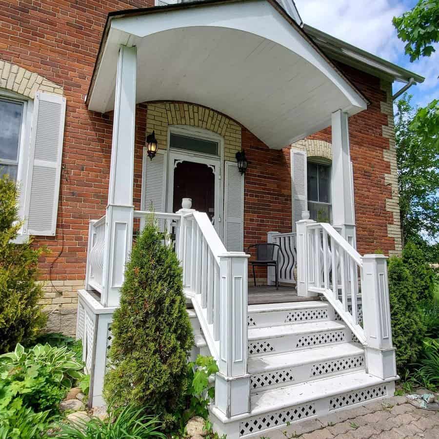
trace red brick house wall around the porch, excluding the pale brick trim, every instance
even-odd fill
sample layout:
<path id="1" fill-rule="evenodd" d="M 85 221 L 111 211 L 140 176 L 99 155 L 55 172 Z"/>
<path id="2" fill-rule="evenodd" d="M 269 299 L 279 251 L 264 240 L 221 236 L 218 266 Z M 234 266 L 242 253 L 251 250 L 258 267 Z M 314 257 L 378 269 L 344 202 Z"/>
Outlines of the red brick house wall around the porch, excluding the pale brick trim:
<path id="1" fill-rule="evenodd" d="M 37 239 L 51 249 L 41 258 L 47 279 L 81 280 L 85 277 L 88 221 L 105 212 L 108 193 L 112 121 L 111 115 L 88 111 L 88 91 L 106 15 L 110 11 L 151 6 L 153 0 L 0 0 L 0 58 L 36 72 L 60 84 L 67 99 L 63 170 L 57 234 Z M 382 158 L 388 140 L 381 125 L 387 117 L 379 102 L 385 94 L 379 80 L 343 66 L 343 70 L 371 100 L 370 108 L 350 120 L 354 160 L 358 246 L 360 253 L 392 249 L 385 210 L 390 189 Z M 137 110 L 134 200 L 140 206 L 141 147 L 145 138 L 146 106 Z M 331 141 L 330 130 L 314 137 Z M 266 232 L 291 230 L 289 153 L 269 150 L 245 128 L 242 145 L 249 169 L 245 178 L 245 246 L 266 240 Z"/>

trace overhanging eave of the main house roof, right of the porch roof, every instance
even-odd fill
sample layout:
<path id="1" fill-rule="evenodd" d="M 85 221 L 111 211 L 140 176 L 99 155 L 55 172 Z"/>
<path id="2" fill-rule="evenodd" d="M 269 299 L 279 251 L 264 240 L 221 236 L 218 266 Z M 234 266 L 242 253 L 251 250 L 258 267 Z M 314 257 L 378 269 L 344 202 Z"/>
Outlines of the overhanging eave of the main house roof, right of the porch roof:
<path id="1" fill-rule="evenodd" d="M 403 83 L 408 83 L 410 78 L 413 78 L 417 83 L 421 83 L 425 80 L 424 77 L 415 72 L 379 58 L 370 52 L 349 44 L 346 41 L 339 40 L 306 23 L 303 24 L 303 30 L 314 40 L 320 50 L 331 59 L 338 60 L 352 67 L 359 68 L 366 73 L 387 80 L 396 80 Z"/>

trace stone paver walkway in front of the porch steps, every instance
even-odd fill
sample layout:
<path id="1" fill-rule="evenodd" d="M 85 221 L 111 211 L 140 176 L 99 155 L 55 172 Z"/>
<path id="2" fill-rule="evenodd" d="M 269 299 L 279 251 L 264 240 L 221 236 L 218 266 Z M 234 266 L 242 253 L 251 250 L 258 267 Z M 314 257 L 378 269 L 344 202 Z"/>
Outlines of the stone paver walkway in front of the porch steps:
<path id="1" fill-rule="evenodd" d="M 393 397 L 267 432 L 270 439 L 439 439 L 439 412 Z"/>

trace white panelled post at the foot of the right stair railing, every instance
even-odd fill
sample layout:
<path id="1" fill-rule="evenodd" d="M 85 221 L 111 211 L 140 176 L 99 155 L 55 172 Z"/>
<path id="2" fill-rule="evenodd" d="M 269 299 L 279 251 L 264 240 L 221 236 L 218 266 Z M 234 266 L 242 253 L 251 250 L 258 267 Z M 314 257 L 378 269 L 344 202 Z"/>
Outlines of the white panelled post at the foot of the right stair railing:
<path id="1" fill-rule="evenodd" d="M 386 259 L 383 255 L 364 255 L 361 279 L 367 372 L 382 379 L 396 376 Z"/>

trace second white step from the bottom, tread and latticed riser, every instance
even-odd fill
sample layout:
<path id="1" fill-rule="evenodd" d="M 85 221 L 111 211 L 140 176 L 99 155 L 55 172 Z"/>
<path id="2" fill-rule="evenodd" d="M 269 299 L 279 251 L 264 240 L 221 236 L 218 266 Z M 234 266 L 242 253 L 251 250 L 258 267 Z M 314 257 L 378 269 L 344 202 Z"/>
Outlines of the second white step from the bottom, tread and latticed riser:
<path id="1" fill-rule="evenodd" d="M 250 391 L 283 387 L 313 379 L 364 370 L 364 349 L 355 343 L 312 347 L 248 360 Z"/>

